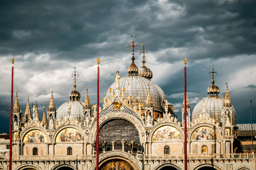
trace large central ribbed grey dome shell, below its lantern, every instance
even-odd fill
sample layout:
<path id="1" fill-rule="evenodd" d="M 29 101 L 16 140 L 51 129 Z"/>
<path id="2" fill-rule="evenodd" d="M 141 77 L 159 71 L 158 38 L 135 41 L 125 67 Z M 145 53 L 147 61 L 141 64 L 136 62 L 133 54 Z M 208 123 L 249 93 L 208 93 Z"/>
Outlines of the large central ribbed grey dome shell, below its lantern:
<path id="1" fill-rule="evenodd" d="M 120 89 L 125 88 L 126 94 L 125 98 L 128 99 L 129 96 L 132 97 L 133 100 L 133 107 L 138 106 L 140 103 L 146 107 L 147 104 L 147 96 L 148 90 L 150 91 L 150 96 L 152 100 L 152 104 L 154 109 L 158 111 L 163 111 L 163 100 L 166 99 L 166 96 L 163 90 L 158 87 L 156 84 L 151 82 L 148 79 L 143 77 L 133 75 L 127 76 L 119 79 Z M 114 82 L 110 88 L 116 89 L 116 83 Z M 110 98 L 109 90 L 107 92 L 106 98 Z"/>

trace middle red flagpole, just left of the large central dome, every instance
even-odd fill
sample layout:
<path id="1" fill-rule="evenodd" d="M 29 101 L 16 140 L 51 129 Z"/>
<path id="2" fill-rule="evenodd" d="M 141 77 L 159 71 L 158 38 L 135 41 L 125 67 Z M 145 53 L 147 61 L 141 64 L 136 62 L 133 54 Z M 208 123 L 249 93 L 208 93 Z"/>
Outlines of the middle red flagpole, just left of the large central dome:
<path id="1" fill-rule="evenodd" d="M 100 78 L 100 58 L 97 58 L 98 63 L 98 86 L 97 86 L 97 151 L 96 151 L 96 170 L 99 170 L 99 78 Z"/>

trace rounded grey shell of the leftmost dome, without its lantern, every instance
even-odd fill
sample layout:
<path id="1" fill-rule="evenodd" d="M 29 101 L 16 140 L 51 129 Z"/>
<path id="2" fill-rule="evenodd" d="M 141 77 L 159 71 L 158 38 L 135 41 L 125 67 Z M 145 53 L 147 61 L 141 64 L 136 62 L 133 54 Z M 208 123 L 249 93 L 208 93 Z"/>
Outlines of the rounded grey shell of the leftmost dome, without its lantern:
<path id="1" fill-rule="evenodd" d="M 57 109 L 56 121 L 59 122 L 59 121 L 64 120 L 65 117 L 68 117 L 68 102 L 71 106 L 70 115 L 73 117 L 74 120 L 77 119 L 78 121 L 82 121 L 83 120 L 83 105 L 84 105 L 84 103 L 82 101 L 78 101 L 78 100 L 71 100 L 71 101 L 67 101 L 66 103 L 63 103 Z"/>

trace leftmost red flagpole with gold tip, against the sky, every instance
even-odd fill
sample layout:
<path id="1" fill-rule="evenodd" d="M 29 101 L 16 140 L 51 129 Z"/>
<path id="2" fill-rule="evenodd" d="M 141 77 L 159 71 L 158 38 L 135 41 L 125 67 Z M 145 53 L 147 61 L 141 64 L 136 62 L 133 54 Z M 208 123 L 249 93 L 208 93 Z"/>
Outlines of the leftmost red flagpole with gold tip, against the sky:
<path id="1" fill-rule="evenodd" d="M 9 169 L 12 169 L 12 104 L 13 104 L 13 63 L 14 58 L 12 58 L 12 89 L 11 89 L 11 116 L 10 116 L 10 160 Z"/>

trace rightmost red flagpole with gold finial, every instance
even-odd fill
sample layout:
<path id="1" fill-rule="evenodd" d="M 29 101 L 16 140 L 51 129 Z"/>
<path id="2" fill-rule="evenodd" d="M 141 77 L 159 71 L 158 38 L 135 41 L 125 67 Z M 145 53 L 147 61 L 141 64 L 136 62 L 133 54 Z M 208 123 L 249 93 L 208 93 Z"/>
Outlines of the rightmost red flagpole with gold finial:
<path id="1" fill-rule="evenodd" d="M 184 149 L 185 149 L 185 170 L 187 170 L 187 80 L 186 80 L 186 63 L 187 63 L 187 58 L 184 59 L 185 67 L 184 67 L 184 77 L 185 77 L 185 92 L 184 92 L 184 106 L 185 106 L 185 113 L 184 113 L 184 134 L 185 134 L 185 142 L 184 142 Z"/>

